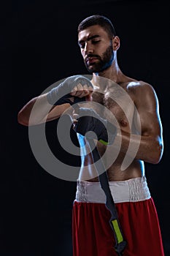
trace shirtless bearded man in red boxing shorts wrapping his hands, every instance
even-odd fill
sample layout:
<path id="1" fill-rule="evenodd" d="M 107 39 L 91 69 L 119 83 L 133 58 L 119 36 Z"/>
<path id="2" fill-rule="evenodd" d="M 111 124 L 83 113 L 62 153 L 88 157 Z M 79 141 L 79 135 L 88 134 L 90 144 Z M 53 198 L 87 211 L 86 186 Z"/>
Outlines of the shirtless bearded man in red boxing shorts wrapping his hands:
<path id="1" fill-rule="evenodd" d="M 53 120 L 70 108 L 74 99 L 85 97 L 84 110 L 92 108 L 117 128 L 113 143 L 107 146 L 98 141 L 97 148 L 101 156 L 106 155 L 104 163 L 108 164 L 109 187 L 127 241 L 124 255 L 163 256 L 158 215 L 144 174 L 144 162 L 157 164 L 163 154 L 155 90 L 148 83 L 128 78 L 120 70 L 117 64 L 120 38 L 108 18 L 93 15 L 82 20 L 78 26 L 78 43 L 85 66 L 93 74 L 90 80 L 93 89 L 88 82 L 76 84 L 77 77 L 73 76 L 69 78 L 69 83 L 74 84 L 69 94 L 70 102 L 64 99 L 56 104 L 53 100 L 50 102 L 58 93 L 55 89 L 53 93 L 50 91 L 31 99 L 18 113 L 18 121 L 28 126 Z M 39 102 L 39 108 L 29 120 L 35 102 Z M 101 105 L 100 110 L 95 103 Z M 80 122 L 80 113 L 73 110 L 72 118 L 75 128 Z M 81 150 L 85 147 L 73 204 L 74 256 L 114 256 L 117 253 L 109 226 L 110 213 L 104 204 L 106 198 L 98 182 L 88 141 L 81 125 L 79 127 L 77 136 Z M 125 158 L 129 161 L 125 162 Z"/>

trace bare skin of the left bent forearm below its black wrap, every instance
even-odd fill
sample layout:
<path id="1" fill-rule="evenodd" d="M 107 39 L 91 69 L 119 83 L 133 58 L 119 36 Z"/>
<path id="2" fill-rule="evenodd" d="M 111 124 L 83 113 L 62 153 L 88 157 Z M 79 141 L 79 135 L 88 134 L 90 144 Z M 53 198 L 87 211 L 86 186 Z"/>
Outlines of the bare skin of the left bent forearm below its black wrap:
<path id="1" fill-rule="evenodd" d="M 53 107 L 47 102 L 47 95 L 42 94 L 39 97 L 31 99 L 18 113 L 18 122 L 25 126 L 41 124 L 61 116 L 69 108 L 69 104 L 63 104 Z"/>

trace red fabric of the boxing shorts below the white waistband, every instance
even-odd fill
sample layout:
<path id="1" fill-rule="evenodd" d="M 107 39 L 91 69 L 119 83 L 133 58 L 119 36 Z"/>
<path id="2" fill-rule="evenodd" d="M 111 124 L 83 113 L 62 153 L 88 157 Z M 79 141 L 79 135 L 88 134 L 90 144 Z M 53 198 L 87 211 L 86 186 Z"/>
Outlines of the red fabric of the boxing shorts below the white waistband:
<path id="1" fill-rule="evenodd" d="M 152 198 L 139 202 L 116 203 L 127 246 L 123 256 L 163 256 L 158 215 Z M 111 214 L 104 203 L 74 201 L 74 256 L 117 256 L 109 225 Z"/>

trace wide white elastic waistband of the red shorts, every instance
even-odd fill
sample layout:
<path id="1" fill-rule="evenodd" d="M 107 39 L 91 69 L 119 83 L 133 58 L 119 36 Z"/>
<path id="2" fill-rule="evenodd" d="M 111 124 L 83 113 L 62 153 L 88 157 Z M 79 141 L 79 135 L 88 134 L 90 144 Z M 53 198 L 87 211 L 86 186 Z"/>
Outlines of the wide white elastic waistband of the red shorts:
<path id="1" fill-rule="evenodd" d="M 109 181 L 109 188 L 115 203 L 137 202 L 150 198 L 146 177 L 131 178 L 127 181 Z M 105 203 L 106 196 L 99 182 L 77 181 L 76 201 Z"/>

